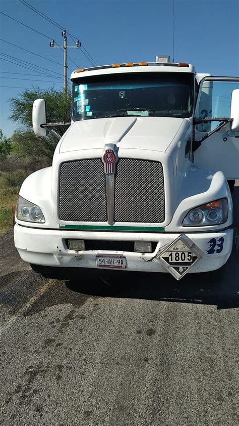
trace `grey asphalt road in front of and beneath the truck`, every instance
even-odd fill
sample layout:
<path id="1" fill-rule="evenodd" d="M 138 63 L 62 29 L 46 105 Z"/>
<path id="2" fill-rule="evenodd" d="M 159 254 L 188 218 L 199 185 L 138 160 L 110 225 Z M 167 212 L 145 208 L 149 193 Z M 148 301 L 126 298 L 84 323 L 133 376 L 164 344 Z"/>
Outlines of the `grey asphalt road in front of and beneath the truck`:
<path id="1" fill-rule="evenodd" d="M 239 251 L 217 284 L 125 271 L 48 280 L 19 260 L 12 233 L 1 250 L 2 424 L 236 424 Z"/>

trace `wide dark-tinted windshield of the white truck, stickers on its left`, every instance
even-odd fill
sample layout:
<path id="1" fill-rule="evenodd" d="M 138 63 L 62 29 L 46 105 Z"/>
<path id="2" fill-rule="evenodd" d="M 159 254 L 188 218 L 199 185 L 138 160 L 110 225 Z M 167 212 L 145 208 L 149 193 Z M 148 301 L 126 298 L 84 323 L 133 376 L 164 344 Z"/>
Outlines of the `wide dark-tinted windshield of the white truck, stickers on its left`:
<path id="1" fill-rule="evenodd" d="M 76 120 L 128 115 L 185 118 L 192 106 L 191 73 L 107 74 L 73 81 Z"/>

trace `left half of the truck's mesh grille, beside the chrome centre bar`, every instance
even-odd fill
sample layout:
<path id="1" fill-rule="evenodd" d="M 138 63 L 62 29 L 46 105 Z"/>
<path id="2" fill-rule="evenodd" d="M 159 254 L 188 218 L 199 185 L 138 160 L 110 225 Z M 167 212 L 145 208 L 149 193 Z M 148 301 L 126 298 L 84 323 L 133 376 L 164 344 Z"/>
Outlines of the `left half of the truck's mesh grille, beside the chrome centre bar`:
<path id="1" fill-rule="evenodd" d="M 104 165 L 100 158 L 61 165 L 59 218 L 71 222 L 107 222 Z"/>

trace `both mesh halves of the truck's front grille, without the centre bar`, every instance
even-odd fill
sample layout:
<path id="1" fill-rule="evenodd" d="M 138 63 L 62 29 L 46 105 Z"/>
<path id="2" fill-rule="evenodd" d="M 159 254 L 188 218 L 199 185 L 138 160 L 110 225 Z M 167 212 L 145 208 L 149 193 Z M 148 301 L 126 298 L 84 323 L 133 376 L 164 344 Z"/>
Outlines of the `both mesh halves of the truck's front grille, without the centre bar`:
<path id="1" fill-rule="evenodd" d="M 107 222 L 105 174 L 100 158 L 61 165 L 59 218 L 70 222 Z M 162 164 L 121 158 L 116 165 L 114 221 L 162 223 L 164 219 Z"/>

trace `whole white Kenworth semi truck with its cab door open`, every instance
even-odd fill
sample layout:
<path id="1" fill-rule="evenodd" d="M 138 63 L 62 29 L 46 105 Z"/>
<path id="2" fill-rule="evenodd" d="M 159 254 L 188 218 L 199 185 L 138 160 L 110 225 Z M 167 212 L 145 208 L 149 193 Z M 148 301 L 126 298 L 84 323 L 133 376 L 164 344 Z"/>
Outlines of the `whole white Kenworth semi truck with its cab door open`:
<path id="1" fill-rule="evenodd" d="M 239 78 L 157 57 L 78 69 L 71 81 L 62 137 L 44 100 L 33 104 L 35 134 L 59 142 L 52 166 L 20 190 L 21 258 L 46 276 L 115 268 L 178 280 L 221 268 L 233 241 L 228 181 L 239 178 Z"/>

